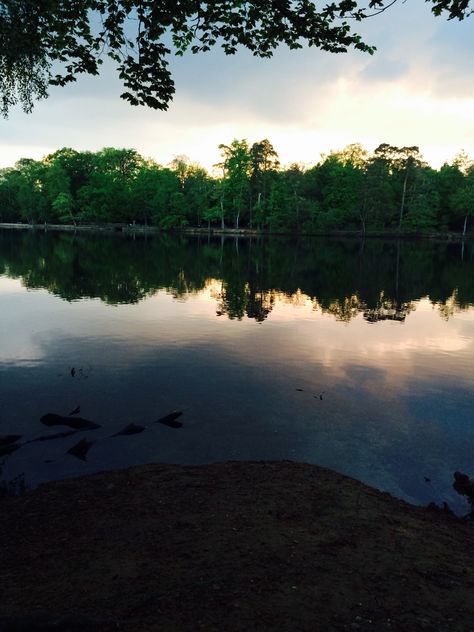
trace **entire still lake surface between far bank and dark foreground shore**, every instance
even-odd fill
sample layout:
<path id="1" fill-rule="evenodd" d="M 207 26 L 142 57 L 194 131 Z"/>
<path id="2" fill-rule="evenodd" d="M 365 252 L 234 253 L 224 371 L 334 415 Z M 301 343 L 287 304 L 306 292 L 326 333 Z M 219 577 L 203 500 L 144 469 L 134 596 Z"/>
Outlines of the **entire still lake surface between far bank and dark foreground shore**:
<path id="1" fill-rule="evenodd" d="M 0 435 L 78 405 L 101 428 L 23 445 L 5 480 L 291 459 L 462 511 L 474 244 L 0 231 Z"/>

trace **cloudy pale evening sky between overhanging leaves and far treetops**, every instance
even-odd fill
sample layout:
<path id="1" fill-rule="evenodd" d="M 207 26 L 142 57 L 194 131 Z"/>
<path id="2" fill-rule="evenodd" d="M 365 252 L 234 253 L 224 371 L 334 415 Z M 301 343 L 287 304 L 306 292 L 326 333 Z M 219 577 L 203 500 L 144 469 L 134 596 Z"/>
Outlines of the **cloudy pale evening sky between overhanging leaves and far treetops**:
<path id="1" fill-rule="evenodd" d="M 398 2 L 356 25 L 373 56 L 279 48 L 172 59 L 176 95 L 166 112 L 132 107 L 112 66 L 101 76 L 52 88 L 32 114 L 0 119 L 0 168 L 61 147 L 134 148 L 162 165 L 185 155 L 207 169 L 218 145 L 268 138 L 282 165 L 316 164 L 359 142 L 420 147 L 435 168 L 461 150 L 474 158 L 474 16 L 435 18 L 422 0 Z"/>

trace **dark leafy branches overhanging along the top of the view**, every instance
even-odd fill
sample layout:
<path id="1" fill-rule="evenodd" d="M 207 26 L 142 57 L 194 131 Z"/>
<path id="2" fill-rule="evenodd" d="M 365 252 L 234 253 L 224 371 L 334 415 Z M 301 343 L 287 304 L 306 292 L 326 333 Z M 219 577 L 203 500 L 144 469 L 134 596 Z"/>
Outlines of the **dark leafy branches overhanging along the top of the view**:
<path id="1" fill-rule="evenodd" d="M 435 15 L 464 19 L 470 0 L 426 0 Z M 30 111 L 50 85 L 97 75 L 111 58 L 132 105 L 167 109 L 175 91 L 172 54 L 206 52 L 220 45 L 271 57 L 281 44 L 333 53 L 373 53 L 353 25 L 396 0 L 0 0 L 0 109 Z"/>

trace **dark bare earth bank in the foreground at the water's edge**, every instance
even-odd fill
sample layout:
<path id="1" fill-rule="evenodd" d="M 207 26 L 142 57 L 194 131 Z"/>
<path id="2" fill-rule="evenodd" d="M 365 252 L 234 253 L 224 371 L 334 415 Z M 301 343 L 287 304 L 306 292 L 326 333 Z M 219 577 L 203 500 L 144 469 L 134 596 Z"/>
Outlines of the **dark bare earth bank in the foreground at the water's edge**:
<path id="1" fill-rule="evenodd" d="M 142 465 L 1 501 L 0 630 L 473 629 L 474 530 L 314 465 Z"/>

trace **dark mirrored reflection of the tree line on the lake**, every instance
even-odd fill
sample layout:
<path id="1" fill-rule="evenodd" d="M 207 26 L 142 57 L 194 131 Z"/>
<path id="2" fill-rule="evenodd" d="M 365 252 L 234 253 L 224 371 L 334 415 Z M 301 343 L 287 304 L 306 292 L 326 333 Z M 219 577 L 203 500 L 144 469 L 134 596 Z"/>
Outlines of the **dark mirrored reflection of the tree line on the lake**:
<path id="1" fill-rule="evenodd" d="M 209 292 L 217 312 L 264 321 L 277 301 L 348 322 L 403 322 L 428 296 L 443 318 L 474 304 L 474 248 L 366 240 L 127 238 L 0 231 L 0 273 L 65 300 L 137 303 L 159 289 Z"/>

